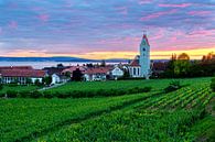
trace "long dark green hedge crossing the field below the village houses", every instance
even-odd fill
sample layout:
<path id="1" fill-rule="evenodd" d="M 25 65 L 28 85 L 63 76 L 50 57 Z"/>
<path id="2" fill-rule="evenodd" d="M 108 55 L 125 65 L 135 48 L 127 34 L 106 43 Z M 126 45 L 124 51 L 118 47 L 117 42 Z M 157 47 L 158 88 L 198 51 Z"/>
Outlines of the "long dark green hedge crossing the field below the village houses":
<path id="1" fill-rule="evenodd" d="M 98 89 L 98 90 L 74 90 L 67 92 L 60 91 L 14 91 L 8 90 L 8 98 L 93 98 L 93 97 L 112 97 L 112 96 L 122 96 L 130 94 L 140 94 L 140 92 L 149 92 L 151 91 L 151 87 L 144 88 L 130 88 L 130 89 Z"/>

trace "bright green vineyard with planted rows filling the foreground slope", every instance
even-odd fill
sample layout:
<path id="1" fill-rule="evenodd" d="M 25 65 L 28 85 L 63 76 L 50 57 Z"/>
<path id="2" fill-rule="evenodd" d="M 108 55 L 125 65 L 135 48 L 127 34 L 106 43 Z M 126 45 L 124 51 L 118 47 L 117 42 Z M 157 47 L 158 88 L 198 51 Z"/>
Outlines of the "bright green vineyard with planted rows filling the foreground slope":
<path id="1" fill-rule="evenodd" d="M 186 86 L 168 94 L 163 89 L 170 80 L 152 81 L 146 85 L 150 92 L 118 97 L 1 99 L 0 140 L 213 141 L 211 78 L 183 79 Z"/>

